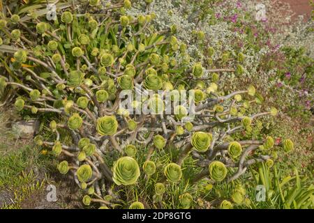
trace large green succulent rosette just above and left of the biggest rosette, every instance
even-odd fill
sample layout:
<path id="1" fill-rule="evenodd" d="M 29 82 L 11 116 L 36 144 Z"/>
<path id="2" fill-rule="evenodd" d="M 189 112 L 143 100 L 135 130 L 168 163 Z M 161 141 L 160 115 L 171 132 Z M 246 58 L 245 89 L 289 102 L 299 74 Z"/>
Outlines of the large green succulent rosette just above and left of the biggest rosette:
<path id="1" fill-rule="evenodd" d="M 117 133 L 118 125 L 116 116 L 103 116 L 97 119 L 96 130 L 100 135 L 113 135 Z"/>

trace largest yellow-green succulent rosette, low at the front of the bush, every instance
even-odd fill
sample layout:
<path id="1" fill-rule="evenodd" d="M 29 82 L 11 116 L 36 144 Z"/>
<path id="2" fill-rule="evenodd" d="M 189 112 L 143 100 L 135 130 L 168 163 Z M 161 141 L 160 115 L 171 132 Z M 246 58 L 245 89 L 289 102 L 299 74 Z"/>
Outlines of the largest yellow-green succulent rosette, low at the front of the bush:
<path id="1" fill-rule="evenodd" d="M 133 185 L 140 176 L 140 167 L 132 157 L 121 157 L 112 167 L 112 180 L 117 185 Z"/>

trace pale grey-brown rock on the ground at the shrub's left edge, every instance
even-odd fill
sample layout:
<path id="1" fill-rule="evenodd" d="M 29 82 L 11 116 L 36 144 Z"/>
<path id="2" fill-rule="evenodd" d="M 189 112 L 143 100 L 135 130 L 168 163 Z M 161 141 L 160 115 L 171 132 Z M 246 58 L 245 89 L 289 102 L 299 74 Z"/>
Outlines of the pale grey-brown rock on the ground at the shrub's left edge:
<path id="1" fill-rule="evenodd" d="M 13 123 L 12 130 L 19 134 L 19 137 L 24 137 L 36 134 L 39 130 L 40 122 L 37 119 L 32 119 L 29 121 L 21 120 Z"/>

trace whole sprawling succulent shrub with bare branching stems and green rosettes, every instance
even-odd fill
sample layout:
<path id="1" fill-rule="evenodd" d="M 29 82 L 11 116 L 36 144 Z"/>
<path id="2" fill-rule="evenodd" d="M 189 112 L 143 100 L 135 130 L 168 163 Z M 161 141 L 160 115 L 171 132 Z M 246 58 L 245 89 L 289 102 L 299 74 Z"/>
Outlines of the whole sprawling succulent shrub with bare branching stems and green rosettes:
<path id="1" fill-rule="evenodd" d="M 0 93 L 15 89 L 19 111 L 51 114 L 52 120 L 43 123 L 52 137 L 38 134 L 34 141 L 52 149 L 61 174 L 73 174 L 84 191 L 85 205 L 150 208 L 172 199 L 175 194 L 168 194 L 167 188 L 182 183 L 194 190 L 177 194 L 177 202 L 181 208 L 192 208 L 202 181 L 229 183 L 257 162 L 271 167 L 274 146 L 293 149 L 290 139 L 281 144 L 270 136 L 234 139 L 235 132 L 259 131 L 258 118 L 276 116 L 277 109 L 253 114 L 251 107 L 261 102 L 254 86 L 220 91 L 218 72 L 234 72 L 233 68 L 204 72 L 202 63 L 190 63 L 188 45 L 177 40 L 175 27 L 156 29 L 150 24 L 157 19 L 154 13 L 127 15 L 131 5 L 129 0 L 77 1 L 77 9 L 58 10 L 54 21 L 36 12 L 27 15 L 27 26 L 19 15 L 0 20 L 0 47 L 6 55 Z M 141 110 L 147 105 L 159 113 L 130 114 L 122 109 L 124 90 L 154 93 L 132 106 Z M 184 121 L 184 105 L 173 105 L 174 112 L 165 113 L 158 90 L 163 95 L 193 90 L 194 119 Z M 161 155 L 167 160 L 158 160 Z M 197 174 L 185 174 L 187 162 Z M 151 203 L 141 197 L 125 201 L 128 188 L 149 182 L 154 184 Z M 240 188 L 220 208 L 242 203 L 244 194 Z"/>

